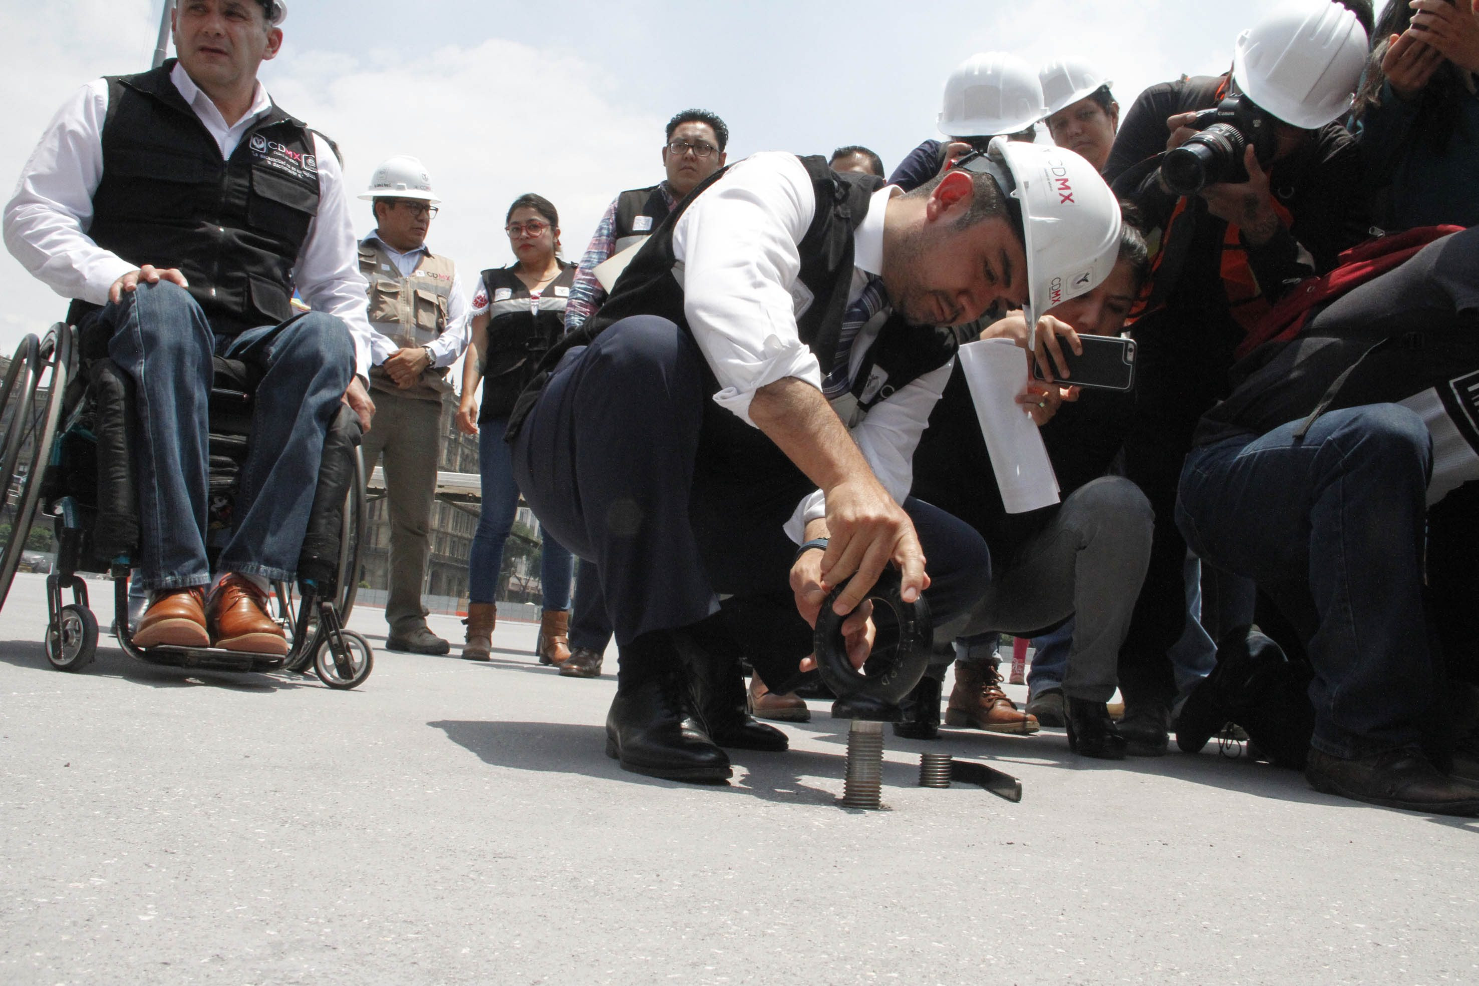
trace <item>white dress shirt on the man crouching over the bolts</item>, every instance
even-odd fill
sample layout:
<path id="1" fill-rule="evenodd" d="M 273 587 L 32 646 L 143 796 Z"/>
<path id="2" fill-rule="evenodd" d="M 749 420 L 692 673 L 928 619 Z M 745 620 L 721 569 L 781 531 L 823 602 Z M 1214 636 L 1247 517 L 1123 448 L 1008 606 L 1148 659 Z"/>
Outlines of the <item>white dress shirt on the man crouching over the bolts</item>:
<path id="1" fill-rule="evenodd" d="M 896 194 L 895 186 L 874 192 L 855 232 L 849 303 L 862 293 L 868 273 L 883 272 L 884 213 Z M 802 269 L 797 245 L 815 214 L 812 179 L 800 160 L 765 152 L 731 167 L 694 200 L 673 228 L 683 313 L 719 380 L 714 401 L 750 424 L 754 424 L 750 401 L 769 383 L 799 377 L 821 390 L 821 365 L 796 327 L 797 313 L 810 303 L 797 279 Z M 853 370 L 877 339 L 879 325 L 881 319 L 870 322 L 873 331 L 859 333 L 853 343 Z M 895 501 L 902 503 L 914 485 L 914 448 L 952 365 L 954 361 L 899 387 L 867 414 L 850 414 L 855 421 L 845 418 L 874 476 Z M 818 489 L 796 507 L 785 532 L 800 544 L 806 523 L 825 514 L 827 503 Z"/>

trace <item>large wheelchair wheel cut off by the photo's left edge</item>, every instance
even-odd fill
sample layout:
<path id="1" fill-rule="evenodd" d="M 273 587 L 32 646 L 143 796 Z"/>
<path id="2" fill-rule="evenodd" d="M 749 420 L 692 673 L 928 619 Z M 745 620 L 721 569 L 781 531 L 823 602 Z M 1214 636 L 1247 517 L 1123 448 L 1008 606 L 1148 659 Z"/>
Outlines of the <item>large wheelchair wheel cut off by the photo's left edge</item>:
<path id="1" fill-rule="evenodd" d="M 31 535 L 41 476 L 52 454 L 62 415 L 67 371 L 72 356 L 72 330 L 58 324 L 37 343 L 27 336 L 0 384 L 0 606 Z"/>

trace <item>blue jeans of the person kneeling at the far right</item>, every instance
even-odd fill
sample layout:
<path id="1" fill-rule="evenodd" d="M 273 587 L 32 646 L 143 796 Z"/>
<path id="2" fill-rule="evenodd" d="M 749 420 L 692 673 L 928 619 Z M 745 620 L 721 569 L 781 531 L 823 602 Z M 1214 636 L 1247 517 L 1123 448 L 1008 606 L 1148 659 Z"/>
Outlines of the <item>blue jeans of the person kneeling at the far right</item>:
<path id="1" fill-rule="evenodd" d="M 1307 582 L 1318 613 L 1312 745 L 1417 745 L 1436 707 L 1423 605 L 1432 439 L 1395 404 L 1330 411 L 1194 449 L 1176 523 L 1198 556 L 1263 585 Z"/>

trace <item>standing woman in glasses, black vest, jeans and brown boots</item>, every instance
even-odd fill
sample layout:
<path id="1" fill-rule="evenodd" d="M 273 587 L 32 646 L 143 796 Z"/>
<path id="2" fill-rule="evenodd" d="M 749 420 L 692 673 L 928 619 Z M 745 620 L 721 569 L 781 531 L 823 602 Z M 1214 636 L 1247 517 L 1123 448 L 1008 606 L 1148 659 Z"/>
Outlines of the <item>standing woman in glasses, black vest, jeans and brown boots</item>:
<path id="1" fill-rule="evenodd" d="M 467 559 L 467 643 L 463 656 L 469 661 L 493 656 L 494 593 L 503 569 L 503 545 L 519 506 L 519 488 L 513 480 L 503 432 L 519 392 L 534 375 L 544 352 L 565 331 L 565 303 L 577 269 L 559 257 L 559 213 L 547 198 L 521 195 L 513 200 L 504 222 L 518 260 L 482 272 L 472 303 L 472 343 L 463 362 L 461 404 L 457 408 L 457 427 L 479 436 L 482 472 L 482 511 Z M 476 399 L 479 380 L 481 407 Z M 537 653 L 541 664 L 558 667 L 569 658 L 571 572 L 569 551 L 546 534 L 540 550 L 544 613 Z"/>

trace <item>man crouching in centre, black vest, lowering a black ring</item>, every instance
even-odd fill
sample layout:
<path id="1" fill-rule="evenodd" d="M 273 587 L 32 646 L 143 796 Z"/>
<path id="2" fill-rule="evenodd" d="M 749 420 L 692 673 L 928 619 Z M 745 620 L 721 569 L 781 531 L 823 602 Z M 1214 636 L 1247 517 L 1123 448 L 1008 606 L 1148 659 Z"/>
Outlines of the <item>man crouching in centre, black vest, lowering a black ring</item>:
<path id="1" fill-rule="evenodd" d="M 744 721 L 735 674 L 700 689 L 707 732 L 686 729 L 680 662 L 716 667 L 744 640 L 784 692 L 831 587 L 847 582 L 834 608 L 852 612 L 893 563 L 936 621 L 984 591 L 981 537 L 907 500 L 954 358 L 952 333 L 927 327 L 1018 307 L 1038 276 L 1021 216 L 1047 200 L 1046 161 L 976 164 L 908 195 L 819 157 L 717 173 L 521 399 L 519 486 L 600 572 L 620 647 L 606 749 L 624 769 L 728 778 L 719 747 L 769 727 Z M 865 609 L 845 633 L 861 662 Z"/>

